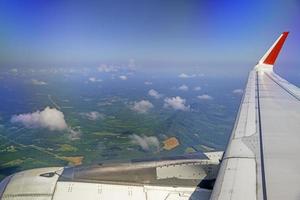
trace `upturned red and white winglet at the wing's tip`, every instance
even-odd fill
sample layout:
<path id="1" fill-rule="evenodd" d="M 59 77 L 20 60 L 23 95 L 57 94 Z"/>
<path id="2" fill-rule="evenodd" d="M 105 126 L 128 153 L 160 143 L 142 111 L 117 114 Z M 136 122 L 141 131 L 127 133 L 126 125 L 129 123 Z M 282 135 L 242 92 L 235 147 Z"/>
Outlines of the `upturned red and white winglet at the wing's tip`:
<path id="1" fill-rule="evenodd" d="M 268 65 L 273 67 L 276 58 L 288 36 L 289 32 L 283 32 L 279 38 L 275 41 L 272 47 L 267 51 L 267 53 L 260 59 L 259 64 Z"/>

